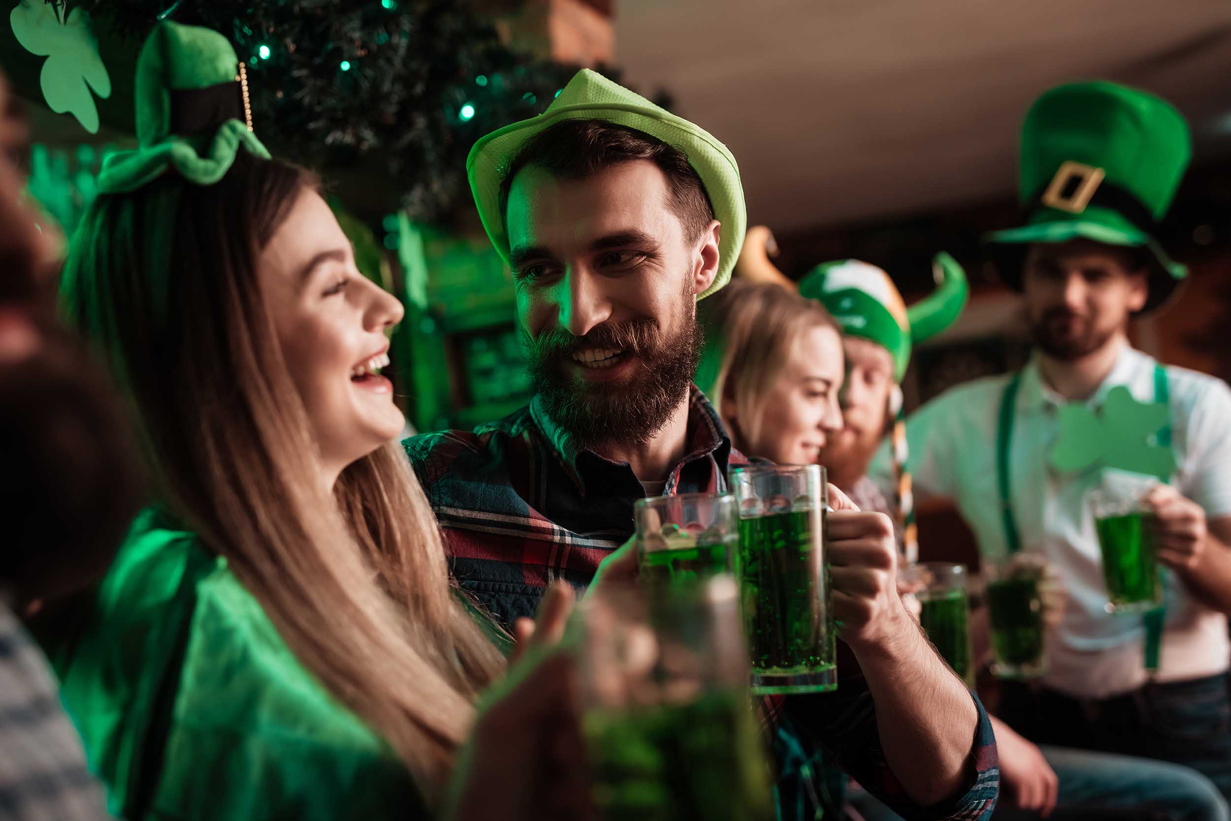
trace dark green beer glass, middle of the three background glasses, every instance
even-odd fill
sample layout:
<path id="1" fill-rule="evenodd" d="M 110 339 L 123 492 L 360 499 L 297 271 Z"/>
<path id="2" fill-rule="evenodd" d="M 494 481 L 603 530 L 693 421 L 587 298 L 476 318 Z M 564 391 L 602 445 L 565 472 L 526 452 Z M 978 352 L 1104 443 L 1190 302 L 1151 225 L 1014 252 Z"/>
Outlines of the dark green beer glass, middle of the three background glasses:
<path id="1" fill-rule="evenodd" d="M 992 673 L 1001 678 L 1035 678 L 1048 672 L 1040 590 L 1046 570 L 1046 561 L 1030 554 L 984 564 Z"/>

